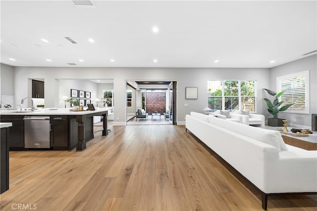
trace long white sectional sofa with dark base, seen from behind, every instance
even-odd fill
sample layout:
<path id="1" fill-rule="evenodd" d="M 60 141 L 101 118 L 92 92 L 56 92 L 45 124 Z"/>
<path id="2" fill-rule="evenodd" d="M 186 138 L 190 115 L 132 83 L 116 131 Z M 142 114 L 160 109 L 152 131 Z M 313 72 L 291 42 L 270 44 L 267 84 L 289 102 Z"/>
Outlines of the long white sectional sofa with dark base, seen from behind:
<path id="1" fill-rule="evenodd" d="M 260 191 L 264 210 L 269 195 L 317 194 L 317 151 L 286 145 L 278 131 L 196 112 L 187 130 Z"/>

